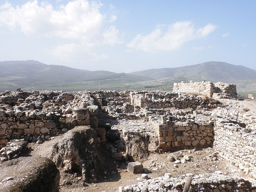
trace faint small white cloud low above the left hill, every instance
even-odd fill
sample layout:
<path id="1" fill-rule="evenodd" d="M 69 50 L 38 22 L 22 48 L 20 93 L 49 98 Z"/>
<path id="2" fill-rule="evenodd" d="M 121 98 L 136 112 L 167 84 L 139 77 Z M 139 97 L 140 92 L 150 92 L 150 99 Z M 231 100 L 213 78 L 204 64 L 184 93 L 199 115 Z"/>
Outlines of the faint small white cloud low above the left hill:
<path id="1" fill-rule="evenodd" d="M 65 61 L 82 61 L 87 59 L 107 59 L 108 56 L 98 55 L 90 52 L 86 47 L 79 44 L 59 45 L 50 51 L 50 54 L 60 60 Z"/>

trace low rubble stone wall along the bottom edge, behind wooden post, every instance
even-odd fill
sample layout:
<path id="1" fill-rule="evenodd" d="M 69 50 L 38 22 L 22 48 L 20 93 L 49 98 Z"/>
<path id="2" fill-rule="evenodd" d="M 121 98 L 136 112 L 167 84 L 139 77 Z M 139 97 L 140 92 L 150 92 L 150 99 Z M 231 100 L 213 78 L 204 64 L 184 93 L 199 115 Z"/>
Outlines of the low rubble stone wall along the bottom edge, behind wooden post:
<path id="1" fill-rule="evenodd" d="M 170 191 L 181 192 L 185 179 L 172 177 L 165 173 L 163 177 L 141 180 L 138 184 L 119 187 L 119 192 L 134 191 Z M 192 176 L 190 192 L 255 192 L 255 185 L 242 177 L 228 177 L 216 173 Z"/>

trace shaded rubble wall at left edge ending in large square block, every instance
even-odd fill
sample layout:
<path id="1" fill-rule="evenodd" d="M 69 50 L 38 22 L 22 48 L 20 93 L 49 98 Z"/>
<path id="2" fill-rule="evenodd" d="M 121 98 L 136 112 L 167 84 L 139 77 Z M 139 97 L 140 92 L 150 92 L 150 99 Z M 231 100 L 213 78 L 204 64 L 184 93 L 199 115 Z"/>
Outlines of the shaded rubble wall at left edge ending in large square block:
<path id="1" fill-rule="evenodd" d="M 10 139 L 25 138 L 29 141 L 40 138 L 50 138 L 61 131 L 67 131 L 77 125 L 90 125 L 90 113 L 88 108 L 73 109 L 73 114 L 67 114 L 66 118 L 59 118 L 55 114 L 24 113 L 6 114 L 0 110 L 0 148 L 4 147 Z M 75 117 L 75 118 L 74 118 Z M 63 130 L 64 129 L 64 130 Z"/>

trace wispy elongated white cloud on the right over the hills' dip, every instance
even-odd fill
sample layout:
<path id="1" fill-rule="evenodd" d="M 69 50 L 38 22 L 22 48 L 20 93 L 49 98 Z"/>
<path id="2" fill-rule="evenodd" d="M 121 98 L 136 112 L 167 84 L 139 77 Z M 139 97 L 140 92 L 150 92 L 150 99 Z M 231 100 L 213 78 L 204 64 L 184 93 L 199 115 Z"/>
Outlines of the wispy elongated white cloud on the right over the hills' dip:
<path id="1" fill-rule="evenodd" d="M 203 28 L 195 29 L 189 21 L 173 23 L 162 32 L 161 26 L 147 35 L 137 35 L 127 46 L 136 50 L 148 52 L 174 51 L 188 41 L 208 36 L 217 28 L 216 25 L 208 24 Z"/>

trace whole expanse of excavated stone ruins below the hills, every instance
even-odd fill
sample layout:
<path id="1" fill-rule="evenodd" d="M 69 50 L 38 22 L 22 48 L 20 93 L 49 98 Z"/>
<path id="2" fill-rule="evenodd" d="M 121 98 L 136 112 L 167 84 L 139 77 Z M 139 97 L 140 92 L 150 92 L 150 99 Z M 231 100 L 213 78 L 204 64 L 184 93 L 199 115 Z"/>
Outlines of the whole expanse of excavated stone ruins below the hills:
<path id="1" fill-rule="evenodd" d="M 246 104 L 235 84 L 205 81 L 173 92 L 2 92 L 0 191 L 184 192 L 191 177 L 191 192 L 255 192 L 256 109 Z M 204 170 L 189 172 L 205 150 Z M 108 188 L 111 174 L 139 178 Z"/>

